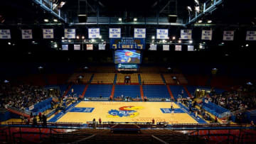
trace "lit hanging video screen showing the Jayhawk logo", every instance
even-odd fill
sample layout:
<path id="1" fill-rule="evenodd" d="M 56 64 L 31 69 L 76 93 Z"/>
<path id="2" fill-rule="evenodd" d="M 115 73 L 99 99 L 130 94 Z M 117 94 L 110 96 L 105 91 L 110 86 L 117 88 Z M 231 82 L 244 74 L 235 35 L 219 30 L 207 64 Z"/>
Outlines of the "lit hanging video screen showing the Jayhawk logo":
<path id="1" fill-rule="evenodd" d="M 133 63 L 139 64 L 141 52 L 139 50 L 115 50 L 114 63 Z"/>

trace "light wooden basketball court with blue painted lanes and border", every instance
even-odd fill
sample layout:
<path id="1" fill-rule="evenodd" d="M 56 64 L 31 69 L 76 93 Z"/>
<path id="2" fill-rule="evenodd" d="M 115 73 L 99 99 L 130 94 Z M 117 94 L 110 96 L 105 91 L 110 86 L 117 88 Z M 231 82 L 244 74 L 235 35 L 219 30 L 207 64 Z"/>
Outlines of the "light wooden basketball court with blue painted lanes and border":
<path id="1" fill-rule="evenodd" d="M 173 111 L 171 111 L 171 103 Z M 98 121 L 114 122 L 156 122 L 206 123 L 188 113 L 185 106 L 174 102 L 120 102 L 120 101 L 80 101 L 71 104 L 51 118 L 50 122 L 87 123 L 93 118 Z"/>

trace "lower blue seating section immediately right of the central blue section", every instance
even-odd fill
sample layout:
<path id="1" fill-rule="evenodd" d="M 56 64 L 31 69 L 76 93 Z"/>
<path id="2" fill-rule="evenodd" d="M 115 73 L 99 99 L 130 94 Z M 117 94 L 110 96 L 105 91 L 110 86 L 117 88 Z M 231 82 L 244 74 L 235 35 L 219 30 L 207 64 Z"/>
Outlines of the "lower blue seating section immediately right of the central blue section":
<path id="1" fill-rule="evenodd" d="M 166 85 L 144 85 L 143 92 L 147 98 L 171 98 Z"/>

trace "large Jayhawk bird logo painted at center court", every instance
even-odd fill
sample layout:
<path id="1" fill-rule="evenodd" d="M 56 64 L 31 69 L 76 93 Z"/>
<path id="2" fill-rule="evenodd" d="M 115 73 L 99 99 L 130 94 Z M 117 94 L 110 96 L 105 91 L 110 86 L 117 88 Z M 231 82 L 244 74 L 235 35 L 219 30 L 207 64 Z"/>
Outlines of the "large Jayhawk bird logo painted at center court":
<path id="1" fill-rule="evenodd" d="M 119 111 L 117 109 L 111 109 L 108 111 L 109 115 L 108 118 L 120 118 L 120 117 L 129 117 L 134 118 L 135 116 L 139 115 L 137 110 L 143 109 L 142 106 L 122 106 L 119 107 Z"/>

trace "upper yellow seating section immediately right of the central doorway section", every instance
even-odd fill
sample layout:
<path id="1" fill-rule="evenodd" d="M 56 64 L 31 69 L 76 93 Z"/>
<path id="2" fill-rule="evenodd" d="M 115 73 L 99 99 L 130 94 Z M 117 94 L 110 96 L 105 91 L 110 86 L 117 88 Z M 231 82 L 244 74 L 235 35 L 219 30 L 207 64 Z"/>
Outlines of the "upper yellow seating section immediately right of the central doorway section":
<path id="1" fill-rule="evenodd" d="M 164 84 L 161 74 L 140 74 L 142 84 Z"/>

